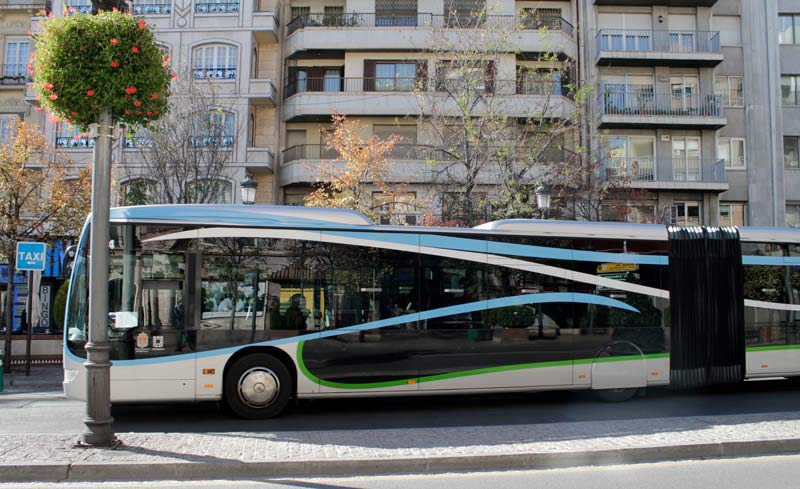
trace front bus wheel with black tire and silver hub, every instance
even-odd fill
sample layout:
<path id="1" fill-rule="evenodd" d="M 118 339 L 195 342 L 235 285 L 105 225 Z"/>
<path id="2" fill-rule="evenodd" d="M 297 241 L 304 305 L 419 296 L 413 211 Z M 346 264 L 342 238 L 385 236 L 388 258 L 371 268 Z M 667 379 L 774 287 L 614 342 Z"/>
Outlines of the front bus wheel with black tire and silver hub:
<path id="1" fill-rule="evenodd" d="M 283 362 L 266 353 L 246 355 L 225 373 L 225 402 L 240 418 L 275 417 L 292 397 L 292 376 Z"/>

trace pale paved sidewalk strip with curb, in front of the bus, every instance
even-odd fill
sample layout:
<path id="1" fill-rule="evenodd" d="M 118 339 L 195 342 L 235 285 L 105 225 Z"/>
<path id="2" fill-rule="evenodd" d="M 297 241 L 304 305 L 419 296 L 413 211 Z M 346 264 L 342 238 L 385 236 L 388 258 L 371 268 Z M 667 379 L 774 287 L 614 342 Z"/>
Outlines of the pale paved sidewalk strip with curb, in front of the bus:
<path id="1" fill-rule="evenodd" d="M 209 429 L 213 429 L 210 425 Z M 428 429 L 0 435 L 0 481 L 424 473 L 651 462 L 800 450 L 800 412 Z"/>

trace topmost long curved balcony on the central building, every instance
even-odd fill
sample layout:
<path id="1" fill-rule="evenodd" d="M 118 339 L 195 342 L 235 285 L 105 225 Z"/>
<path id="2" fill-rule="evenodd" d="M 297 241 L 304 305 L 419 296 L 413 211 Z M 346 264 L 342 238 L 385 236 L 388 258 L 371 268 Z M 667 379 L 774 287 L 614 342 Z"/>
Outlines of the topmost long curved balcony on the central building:
<path id="1" fill-rule="evenodd" d="M 446 32 L 451 41 L 470 29 L 507 32 L 510 43 L 522 52 L 561 52 L 574 58 L 576 44 L 572 24 L 558 16 L 473 17 L 422 13 L 305 14 L 286 26 L 285 55 L 302 51 L 369 50 L 418 51 L 430 49 L 434 30 Z M 446 42 L 447 39 L 442 39 Z"/>

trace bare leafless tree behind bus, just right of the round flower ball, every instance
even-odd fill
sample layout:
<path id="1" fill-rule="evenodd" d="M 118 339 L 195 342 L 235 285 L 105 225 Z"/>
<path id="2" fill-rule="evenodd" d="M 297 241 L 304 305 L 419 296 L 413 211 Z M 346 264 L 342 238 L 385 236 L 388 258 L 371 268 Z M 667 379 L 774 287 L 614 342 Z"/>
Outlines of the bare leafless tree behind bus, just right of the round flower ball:
<path id="1" fill-rule="evenodd" d="M 130 128 L 122 201 L 126 205 L 223 203 L 232 197 L 230 163 L 240 126 L 212 82 L 177 82 L 170 110 L 147 128 Z"/>

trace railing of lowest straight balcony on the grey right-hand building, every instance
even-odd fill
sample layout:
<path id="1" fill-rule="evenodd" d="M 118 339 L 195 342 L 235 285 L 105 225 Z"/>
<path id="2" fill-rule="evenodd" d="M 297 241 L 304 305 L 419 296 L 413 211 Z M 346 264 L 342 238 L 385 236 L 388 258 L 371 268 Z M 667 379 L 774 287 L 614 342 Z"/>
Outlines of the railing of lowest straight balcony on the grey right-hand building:
<path id="1" fill-rule="evenodd" d="M 725 182 L 725 160 L 661 156 L 605 158 L 603 175 L 631 182 Z"/>

